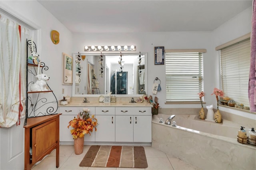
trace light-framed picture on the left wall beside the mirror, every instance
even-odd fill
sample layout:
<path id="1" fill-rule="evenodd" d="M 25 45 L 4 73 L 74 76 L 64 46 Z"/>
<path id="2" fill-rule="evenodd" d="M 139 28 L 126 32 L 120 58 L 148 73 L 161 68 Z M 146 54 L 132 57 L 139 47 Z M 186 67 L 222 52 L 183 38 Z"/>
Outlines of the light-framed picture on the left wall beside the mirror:
<path id="1" fill-rule="evenodd" d="M 63 85 L 72 85 L 73 83 L 73 58 L 62 53 L 62 63 L 63 63 Z"/>

